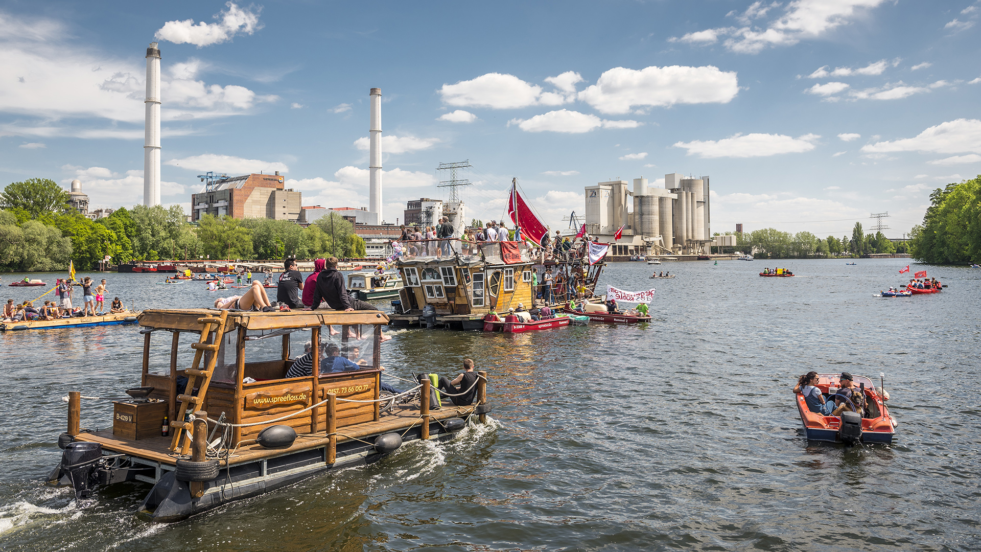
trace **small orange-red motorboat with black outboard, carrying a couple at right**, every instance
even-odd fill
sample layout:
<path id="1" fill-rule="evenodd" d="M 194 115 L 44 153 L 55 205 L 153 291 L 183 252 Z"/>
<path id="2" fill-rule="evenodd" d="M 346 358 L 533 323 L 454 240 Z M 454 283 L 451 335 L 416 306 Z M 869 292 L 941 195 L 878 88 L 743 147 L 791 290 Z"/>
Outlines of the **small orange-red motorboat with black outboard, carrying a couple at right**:
<path id="1" fill-rule="evenodd" d="M 841 383 L 839 374 L 817 374 L 817 388 L 821 390 L 826 400 L 831 400 L 838 391 Z M 842 416 L 812 413 L 807 408 L 803 394 L 797 394 L 797 405 L 800 421 L 803 423 L 804 435 L 813 441 L 892 443 L 896 434 L 896 419 L 886 408 L 882 388 L 876 390 L 872 379 L 863 375 L 854 375 L 853 381 L 864 392 L 865 408 L 861 413 L 844 412 Z M 887 395 L 888 397 L 888 395 Z M 843 423 L 844 418 L 844 423 Z M 851 419 L 850 419 L 851 418 Z M 860 421 L 859 421 L 860 420 Z"/>

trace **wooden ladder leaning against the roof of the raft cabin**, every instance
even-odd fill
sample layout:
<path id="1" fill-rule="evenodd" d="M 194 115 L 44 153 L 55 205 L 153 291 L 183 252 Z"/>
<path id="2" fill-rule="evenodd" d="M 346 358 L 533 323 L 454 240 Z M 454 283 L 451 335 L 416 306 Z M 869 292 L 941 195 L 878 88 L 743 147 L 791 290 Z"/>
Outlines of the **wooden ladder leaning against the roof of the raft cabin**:
<path id="1" fill-rule="evenodd" d="M 228 317 L 229 311 L 222 310 L 221 316 L 208 315 L 197 319 L 197 323 L 202 325 L 201 338 L 197 343 L 190 344 L 190 348 L 194 350 L 194 363 L 191 367 L 184 370 L 184 373 L 187 375 L 187 386 L 184 387 L 183 394 L 178 395 L 178 401 L 181 402 L 181 407 L 178 409 L 178 415 L 175 416 L 176 419 L 171 420 L 171 427 L 178 428 L 178 431 L 174 433 L 174 438 L 171 440 L 171 450 L 174 452 L 187 454 L 187 451 L 190 449 L 190 436 L 193 432 L 193 423 L 189 420 L 189 417 L 201 410 L 201 405 L 204 404 L 204 397 L 208 393 L 208 385 L 211 384 L 211 376 L 215 373 L 218 350 L 222 346 L 222 339 L 225 336 L 225 323 Z M 211 336 L 214 336 L 214 339 L 211 339 L 211 343 L 208 343 Z M 201 359 L 204 357 L 206 351 L 211 352 L 211 355 L 208 356 L 204 369 L 200 369 Z M 194 392 L 195 387 L 197 387 L 196 394 Z"/>

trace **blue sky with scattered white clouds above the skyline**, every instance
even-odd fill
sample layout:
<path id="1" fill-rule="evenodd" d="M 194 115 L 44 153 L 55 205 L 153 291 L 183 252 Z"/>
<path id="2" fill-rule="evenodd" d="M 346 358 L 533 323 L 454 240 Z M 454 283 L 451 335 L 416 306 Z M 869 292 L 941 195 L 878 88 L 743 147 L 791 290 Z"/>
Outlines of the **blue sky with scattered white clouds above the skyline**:
<path id="1" fill-rule="evenodd" d="M 280 170 L 304 204 L 368 204 L 383 91 L 385 219 L 461 173 L 473 216 L 517 177 L 553 228 L 583 187 L 709 175 L 712 230 L 826 236 L 981 173 L 981 4 L 4 2 L 0 182 L 142 200 L 144 54 L 162 52 L 162 198 Z"/>

